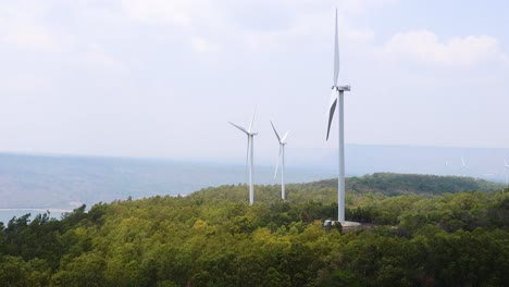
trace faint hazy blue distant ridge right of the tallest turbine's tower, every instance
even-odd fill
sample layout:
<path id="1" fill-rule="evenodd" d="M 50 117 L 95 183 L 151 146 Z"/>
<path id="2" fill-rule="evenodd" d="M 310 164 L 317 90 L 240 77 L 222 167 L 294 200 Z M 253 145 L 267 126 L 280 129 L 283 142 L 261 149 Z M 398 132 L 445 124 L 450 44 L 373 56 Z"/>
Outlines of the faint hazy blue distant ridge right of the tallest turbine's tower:
<path id="1" fill-rule="evenodd" d="M 345 153 L 349 175 L 380 172 L 465 175 L 504 183 L 507 172 L 504 160 L 509 162 L 509 149 L 505 148 L 346 145 Z M 461 158 L 468 169 L 461 167 Z M 335 167 L 336 162 L 328 159 L 337 159 L 337 151 L 321 150 L 316 159 Z M 318 160 L 307 163 L 319 164 Z"/>

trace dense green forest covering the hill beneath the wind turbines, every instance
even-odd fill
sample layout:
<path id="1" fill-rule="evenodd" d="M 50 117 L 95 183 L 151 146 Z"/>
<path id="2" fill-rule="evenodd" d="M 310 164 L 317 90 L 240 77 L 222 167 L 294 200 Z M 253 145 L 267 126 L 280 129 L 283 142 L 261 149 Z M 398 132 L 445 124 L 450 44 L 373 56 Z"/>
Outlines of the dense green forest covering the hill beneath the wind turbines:
<path id="1" fill-rule="evenodd" d="M 0 224 L 2 286 L 504 286 L 509 189 L 464 177 L 373 174 L 207 188 Z M 498 188 L 498 189 L 497 189 Z"/>

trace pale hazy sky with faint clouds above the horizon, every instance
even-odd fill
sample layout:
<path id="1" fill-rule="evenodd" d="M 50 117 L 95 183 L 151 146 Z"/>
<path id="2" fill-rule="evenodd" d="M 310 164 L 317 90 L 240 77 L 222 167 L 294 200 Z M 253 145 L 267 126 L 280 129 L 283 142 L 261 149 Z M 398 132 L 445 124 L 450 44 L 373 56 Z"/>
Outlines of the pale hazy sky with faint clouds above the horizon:
<path id="1" fill-rule="evenodd" d="M 0 151 L 332 150 L 335 7 L 347 142 L 509 147 L 507 1 L 0 0 Z"/>

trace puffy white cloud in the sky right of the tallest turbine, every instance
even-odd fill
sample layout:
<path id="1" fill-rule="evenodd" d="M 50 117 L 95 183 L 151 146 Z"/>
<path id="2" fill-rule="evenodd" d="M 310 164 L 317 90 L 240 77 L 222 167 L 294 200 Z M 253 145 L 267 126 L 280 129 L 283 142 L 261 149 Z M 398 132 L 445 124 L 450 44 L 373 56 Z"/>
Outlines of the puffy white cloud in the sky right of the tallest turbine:
<path id="1" fill-rule="evenodd" d="M 394 35 L 380 50 L 392 57 L 426 64 L 467 67 L 489 61 L 507 61 L 496 38 L 481 35 L 440 40 L 430 30 Z"/>

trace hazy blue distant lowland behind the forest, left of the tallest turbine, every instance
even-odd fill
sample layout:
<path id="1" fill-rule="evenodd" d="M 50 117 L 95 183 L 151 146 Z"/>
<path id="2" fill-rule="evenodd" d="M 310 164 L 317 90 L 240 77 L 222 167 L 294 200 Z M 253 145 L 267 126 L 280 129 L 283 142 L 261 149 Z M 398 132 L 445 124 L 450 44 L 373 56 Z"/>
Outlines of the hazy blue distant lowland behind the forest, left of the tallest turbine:
<path id="1" fill-rule="evenodd" d="M 331 178 L 334 170 L 287 167 L 287 183 Z M 254 166 L 256 184 L 278 184 L 273 166 Z M 127 197 L 187 195 L 246 182 L 246 166 L 170 160 L 0 153 L 0 209 L 72 210 Z M 20 213 L 21 212 L 21 213 Z M 0 221 L 24 211 L 0 211 Z M 55 217 L 61 214 L 51 213 Z M 8 219 L 8 220 L 5 220 Z"/>

